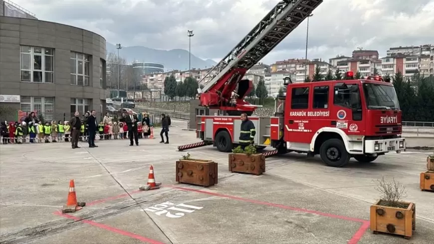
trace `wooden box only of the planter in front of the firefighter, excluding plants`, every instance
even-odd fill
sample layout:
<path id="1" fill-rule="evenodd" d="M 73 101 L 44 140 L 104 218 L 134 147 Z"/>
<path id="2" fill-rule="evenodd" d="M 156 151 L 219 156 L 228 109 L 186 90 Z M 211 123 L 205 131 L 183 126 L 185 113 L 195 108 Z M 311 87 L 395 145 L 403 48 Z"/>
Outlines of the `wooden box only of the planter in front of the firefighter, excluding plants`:
<path id="1" fill-rule="evenodd" d="M 229 153 L 229 171 L 261 175 L 265 172 L 265 156 Z"/>

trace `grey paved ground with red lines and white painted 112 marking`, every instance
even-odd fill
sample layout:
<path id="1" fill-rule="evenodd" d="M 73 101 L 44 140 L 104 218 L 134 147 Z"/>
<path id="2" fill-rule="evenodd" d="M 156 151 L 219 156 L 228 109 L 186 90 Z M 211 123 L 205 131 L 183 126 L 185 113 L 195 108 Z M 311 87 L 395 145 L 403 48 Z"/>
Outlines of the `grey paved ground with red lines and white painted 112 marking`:
<path id="1" fill-rule="evenodd" d="M 405 152 L 374 163 L 324 166 L 290 153 L 266 161 L 261 176 L 227 171 L 227 154 L 190 150 L 218 163 L 219 182 L 202 188 L 175 182 L 175 161 L 196 142 L 193 131 L 171 129 L 171 144 L 141 139 L 102 141 L 98 148 L 68 143 L 1 145 L 1 244 L 427 244 L 434 243 L 434 193 L 419 190 L 427 153 Z M 175 125 L 177 122 L 175 122 Z M 161 189 L 140 192 L 154 165 Z M 369 230 L 376 180 L 395 177 L 418 206 L 411 241 Z M 62 215 L 69 180 L 82 210 Z"/>

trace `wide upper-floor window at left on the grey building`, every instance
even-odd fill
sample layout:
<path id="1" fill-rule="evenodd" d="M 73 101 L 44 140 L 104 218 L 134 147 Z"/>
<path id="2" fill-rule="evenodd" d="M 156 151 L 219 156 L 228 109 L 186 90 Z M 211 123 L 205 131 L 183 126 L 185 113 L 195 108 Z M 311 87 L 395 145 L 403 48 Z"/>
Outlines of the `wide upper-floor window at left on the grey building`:
<path id="1" fill-rule="evenodd" d="M 22 82 L 54 82 L 54 49 L 46 47 L 20 47 Z"/>

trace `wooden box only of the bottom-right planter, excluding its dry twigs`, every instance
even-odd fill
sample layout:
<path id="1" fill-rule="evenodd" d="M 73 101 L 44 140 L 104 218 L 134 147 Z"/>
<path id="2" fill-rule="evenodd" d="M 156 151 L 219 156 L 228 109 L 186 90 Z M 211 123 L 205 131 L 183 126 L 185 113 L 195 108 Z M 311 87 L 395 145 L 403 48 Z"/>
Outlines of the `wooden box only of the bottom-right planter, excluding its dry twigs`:
<path id="1" fill-rule="evenodd" d="M 416 205 L 401 202 L 408 207 L 394 208 L 379 205 L 381 201 L 378 200 L 371 206 L 371 231 L 374 234 L 382 232 L 410 239 L 413 236 L 413 231 L 416 230 Z"/>

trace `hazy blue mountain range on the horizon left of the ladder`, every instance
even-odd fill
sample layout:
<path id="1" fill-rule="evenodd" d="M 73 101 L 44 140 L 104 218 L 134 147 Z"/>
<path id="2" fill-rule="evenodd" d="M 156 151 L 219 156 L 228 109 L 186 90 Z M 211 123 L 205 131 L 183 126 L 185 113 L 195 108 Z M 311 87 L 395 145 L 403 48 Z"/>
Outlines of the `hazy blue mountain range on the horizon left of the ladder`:
<path id="1" fill-rule="evenodd" d="M 107 52 L 116 53 L 116 46 L 107 42 Z M 164 64 L 166 71 L 170 70 L 188 70 L 189 69 L 189 51 L 184 49 L 160 50 L 142 46 L 122 47 L 119 56 L 131 63 L 139 62 L 156 62 Z M 201 59 L 192 54 L 191 67 L 196 69 L 210 68 L 217 63 L 212 59 Z"/>

